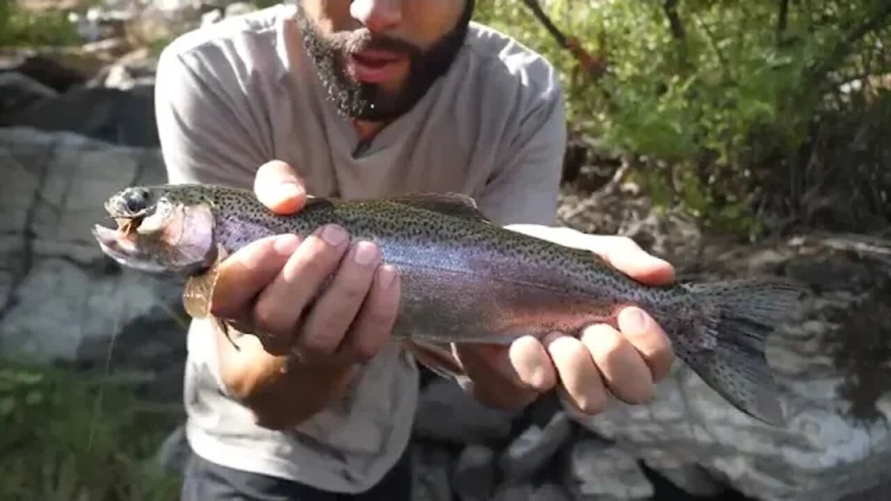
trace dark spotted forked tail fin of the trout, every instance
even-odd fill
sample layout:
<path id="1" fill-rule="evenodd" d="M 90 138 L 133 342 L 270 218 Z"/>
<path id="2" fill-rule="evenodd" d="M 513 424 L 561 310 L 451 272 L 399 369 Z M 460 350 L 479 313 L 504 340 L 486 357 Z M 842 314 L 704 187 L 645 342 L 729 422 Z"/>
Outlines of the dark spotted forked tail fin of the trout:
<path id="1" fill-rule="evenodd" d="M 805 290 L 792 283 L 746 279 L 687 288 L 704 316 L 698 337 L 707 340 L 685 354 L 688 365 L 741 411 L 764 423 L 785 424 L 764 341 L 800 304 Z"/>

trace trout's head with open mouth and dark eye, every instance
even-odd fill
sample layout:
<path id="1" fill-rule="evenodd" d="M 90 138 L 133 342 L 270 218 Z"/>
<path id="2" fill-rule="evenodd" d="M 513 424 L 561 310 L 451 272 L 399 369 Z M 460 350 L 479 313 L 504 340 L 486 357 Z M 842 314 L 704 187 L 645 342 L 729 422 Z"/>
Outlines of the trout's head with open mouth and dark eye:
<path id="1" fill-rule="evenodd" d="M 184 187 L 131 186 L 105 201 L 117 228 L 93 227 L 107 256 L 124 267 L 195 275 L 217 259 L 212 203 Z"/>

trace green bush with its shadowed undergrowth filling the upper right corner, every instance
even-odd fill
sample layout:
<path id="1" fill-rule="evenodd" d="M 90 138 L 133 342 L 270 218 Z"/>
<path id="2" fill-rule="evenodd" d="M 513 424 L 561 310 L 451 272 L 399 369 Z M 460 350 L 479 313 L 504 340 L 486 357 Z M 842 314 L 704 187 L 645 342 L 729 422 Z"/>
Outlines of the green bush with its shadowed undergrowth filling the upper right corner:
<path id="1" fill-rule="evenodd" d="M 593 74 L 523 1 L 477 4 L 557 64 L 572 127 L 630 161 L 658 206 L 747 236 L 887 228 L 887 1 L 543 2 Z"/>

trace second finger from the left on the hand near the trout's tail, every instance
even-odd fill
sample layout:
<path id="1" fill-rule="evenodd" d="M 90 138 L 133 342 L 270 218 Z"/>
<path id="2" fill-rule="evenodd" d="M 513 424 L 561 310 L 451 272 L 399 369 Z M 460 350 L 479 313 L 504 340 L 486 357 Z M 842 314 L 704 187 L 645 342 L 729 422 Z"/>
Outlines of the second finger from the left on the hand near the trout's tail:
<path id="1" fill-rule="evenodd" d="M 545 339 L 545 347 L 560 374 L 569 401 L 580 411 L 596 415 L 607 406 L 607 392 L 591 352 L 574 337 L 556 335 Z"/>

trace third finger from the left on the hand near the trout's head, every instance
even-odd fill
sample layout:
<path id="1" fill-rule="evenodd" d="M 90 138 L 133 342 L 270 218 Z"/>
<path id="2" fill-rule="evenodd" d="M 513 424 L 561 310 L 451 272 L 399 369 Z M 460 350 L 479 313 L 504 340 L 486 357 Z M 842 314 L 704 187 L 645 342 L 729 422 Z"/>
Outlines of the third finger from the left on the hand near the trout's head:
<path id="1" fill-rule="evenodd" d="M 349 342 L 331 334 L 347 332 L 372 286 L 379 263 L 380 251 L 372 242 L 358 242 L 349 250 L 302 324 L 301 336 L 318 340 L 314 349 L 331 355 L 339 344 Z"/>

